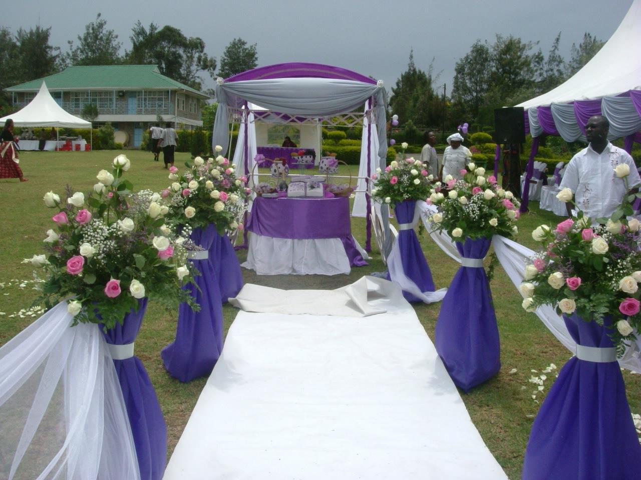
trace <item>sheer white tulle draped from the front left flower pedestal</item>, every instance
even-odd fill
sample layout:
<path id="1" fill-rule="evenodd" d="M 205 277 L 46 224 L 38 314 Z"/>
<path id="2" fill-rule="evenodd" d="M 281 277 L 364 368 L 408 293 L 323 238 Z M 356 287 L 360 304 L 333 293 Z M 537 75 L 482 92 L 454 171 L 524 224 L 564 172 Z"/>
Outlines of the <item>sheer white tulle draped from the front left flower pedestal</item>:
<path id="1" fill-rule="evenodd" d="M 0 348 L 0 478 L 138 480 L 104 337 L 71 321 L 59 303 Z"/>

